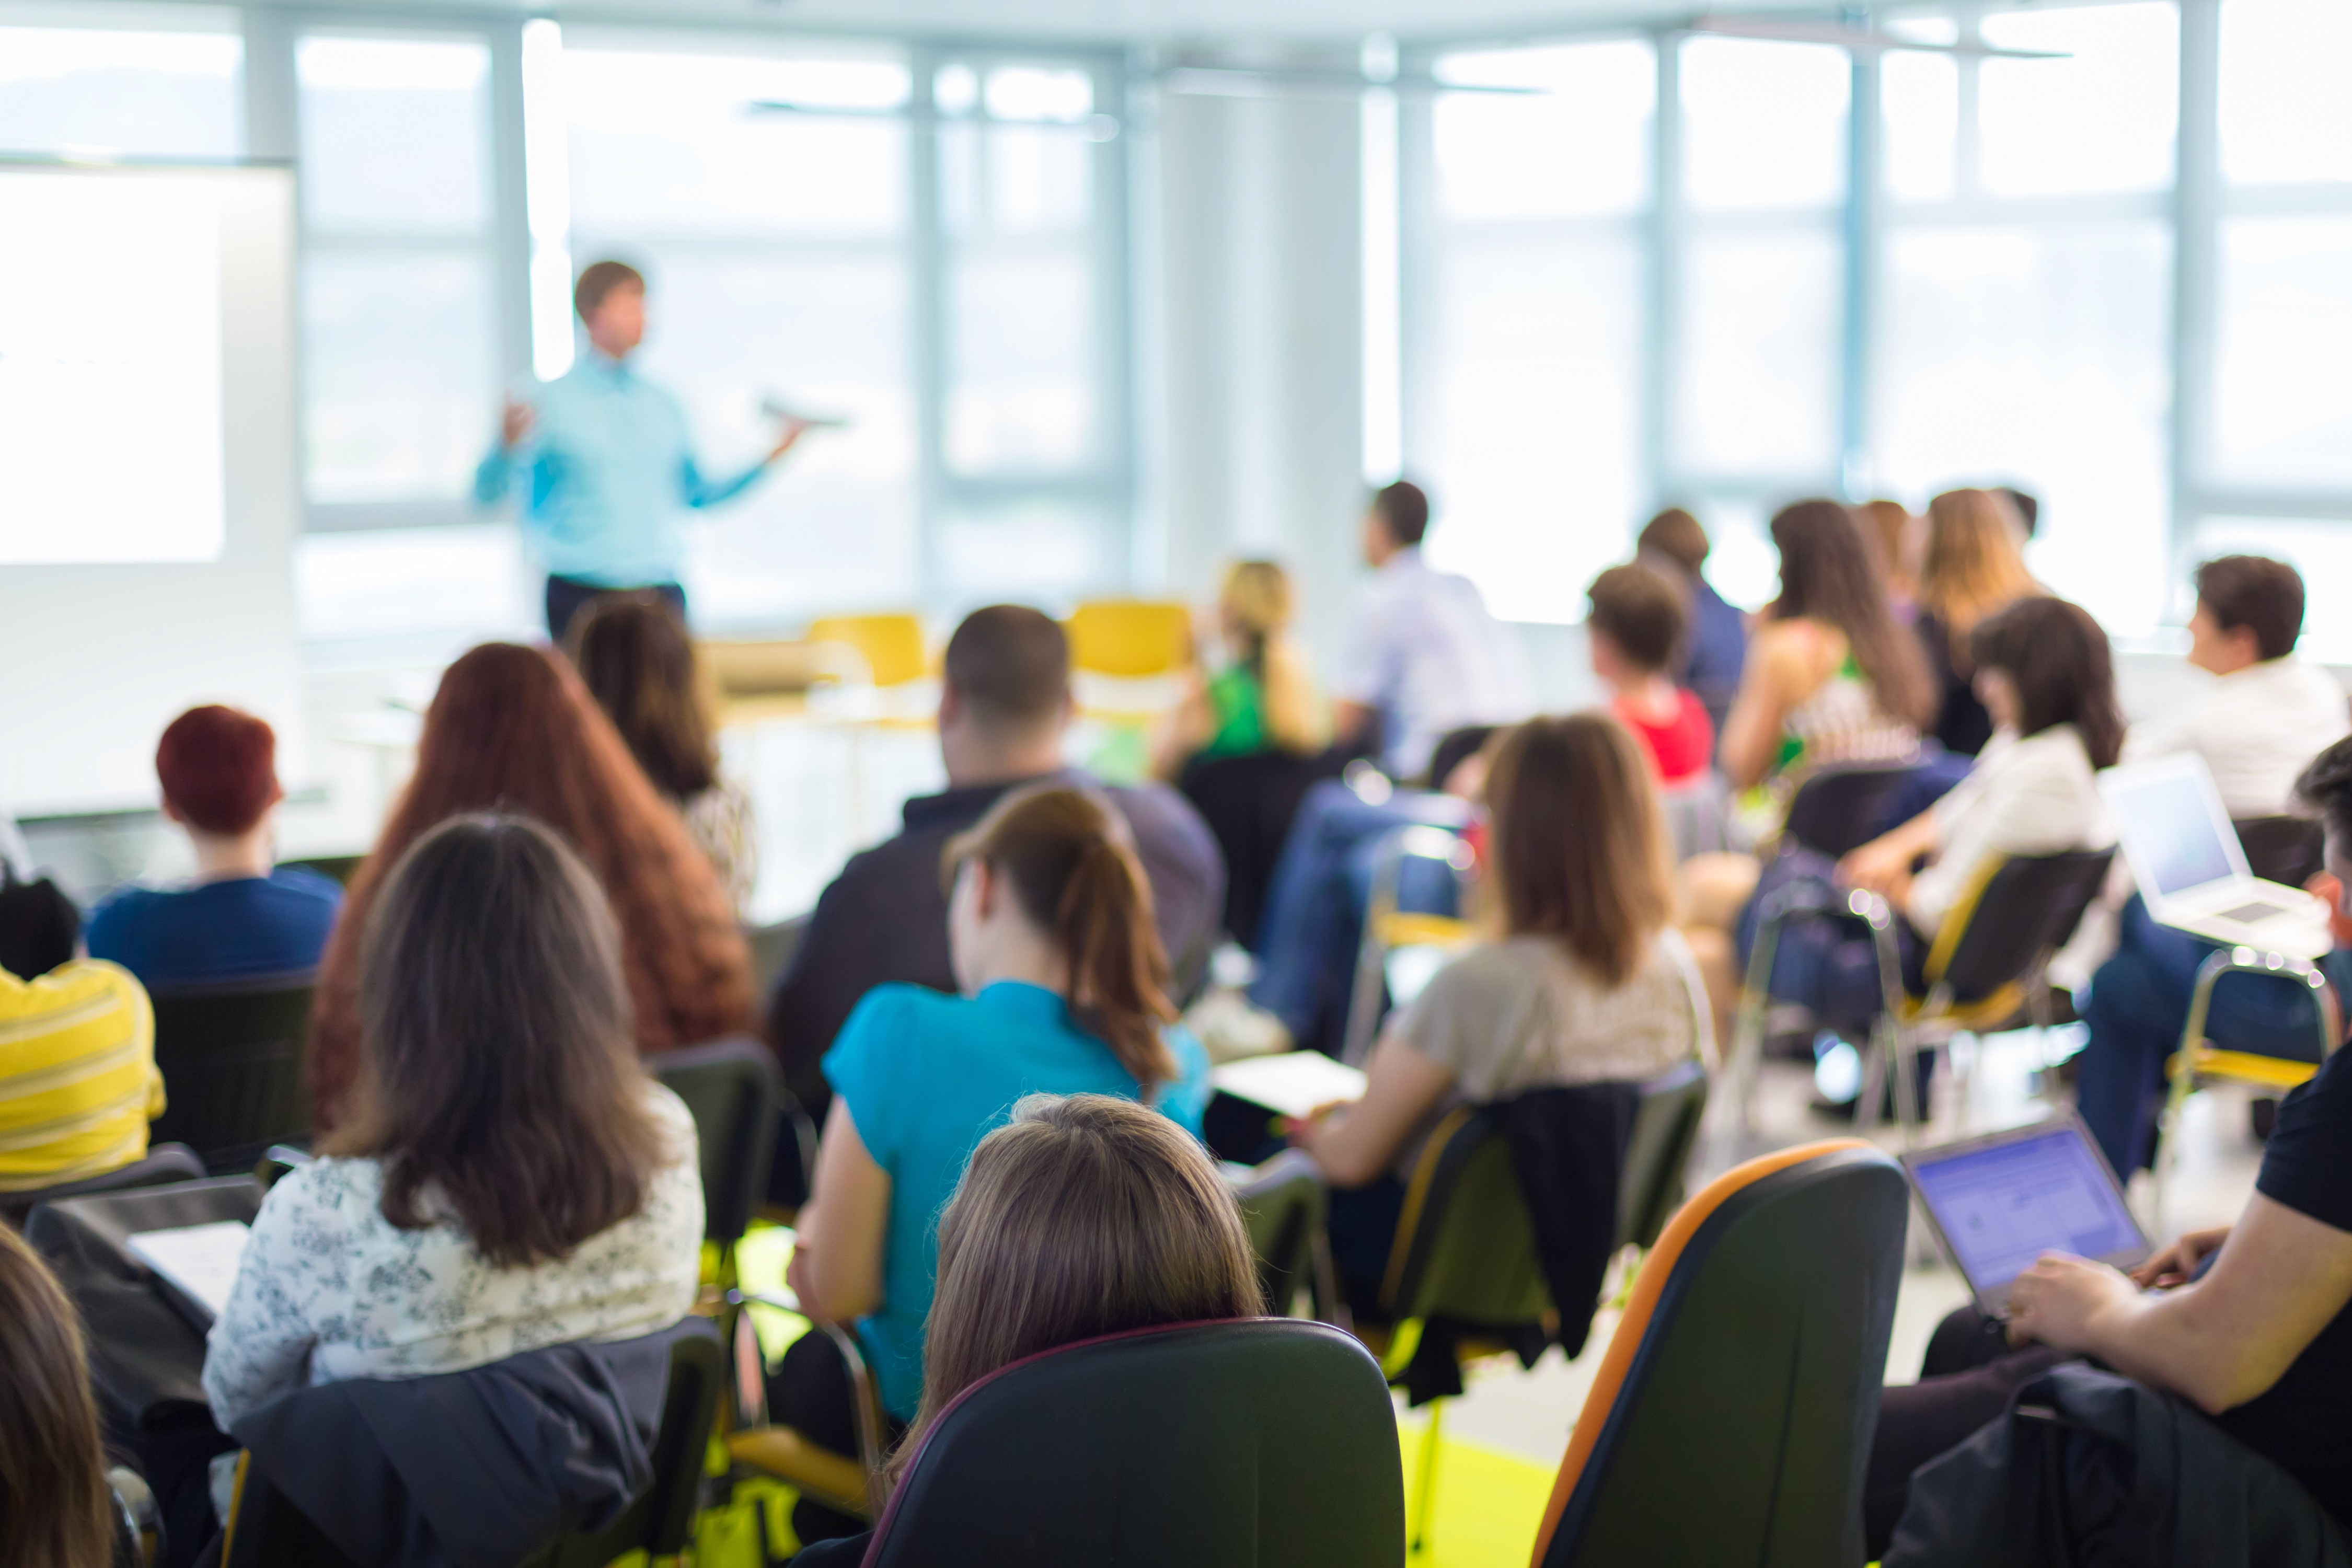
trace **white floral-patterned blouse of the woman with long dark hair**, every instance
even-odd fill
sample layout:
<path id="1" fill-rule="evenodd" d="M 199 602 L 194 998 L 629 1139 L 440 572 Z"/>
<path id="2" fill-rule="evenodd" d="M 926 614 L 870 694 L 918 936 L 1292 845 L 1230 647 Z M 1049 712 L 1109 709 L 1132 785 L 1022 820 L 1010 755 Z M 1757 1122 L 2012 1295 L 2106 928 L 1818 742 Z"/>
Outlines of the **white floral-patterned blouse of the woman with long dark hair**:
<path id="1" fill-rule="evenodd" d="M 341 1378 L 421 1378 L 574 1340 L 626 1340 L 694 1307 L 703 1178 L 694 1117 L 652 1088 L 673 1157 L 644 1208 L 560 1262 L 501 1269 L 442 1218 L 383 1218 L 374 1159 L 315 1159 L 254 1218 L 228 1307 L 205 1345 L 205 1399 L 226 1432 L 287 1389 Z M 421 1204 L 430 1213 L 430 1199 Z"/>

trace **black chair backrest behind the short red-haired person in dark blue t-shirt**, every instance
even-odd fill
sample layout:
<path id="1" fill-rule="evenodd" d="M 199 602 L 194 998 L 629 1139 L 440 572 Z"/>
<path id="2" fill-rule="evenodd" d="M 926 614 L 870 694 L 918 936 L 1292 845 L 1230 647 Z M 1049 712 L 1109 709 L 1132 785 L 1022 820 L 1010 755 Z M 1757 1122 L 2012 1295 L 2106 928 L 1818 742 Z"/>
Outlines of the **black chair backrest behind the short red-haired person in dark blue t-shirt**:
<path id="1" fill-rule="evenodd" d="M 308 1140 L 310 983 L 303 971 L 148 992 L 167 1098 L 153 1135 L 186 1143 L 207 1171 L 249 1171 L 273 1143 Z"/>

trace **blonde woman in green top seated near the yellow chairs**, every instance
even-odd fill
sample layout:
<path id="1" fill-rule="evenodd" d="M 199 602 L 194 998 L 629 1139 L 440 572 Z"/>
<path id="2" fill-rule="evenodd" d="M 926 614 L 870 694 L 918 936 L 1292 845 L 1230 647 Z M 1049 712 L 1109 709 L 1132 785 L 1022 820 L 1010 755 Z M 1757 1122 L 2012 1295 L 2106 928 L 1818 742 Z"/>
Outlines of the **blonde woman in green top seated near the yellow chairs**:
<path id="1" fill-rule="evenodd" d="M 1235 562 L 1216 595 L 1223 665 L 1195 677 L 1155 748 L 1176 778 L 1188 762 L 1319 752 L 1331 738 L 1308 658 L 1291 639 L 1291 578 L 1275 562 Z"/>

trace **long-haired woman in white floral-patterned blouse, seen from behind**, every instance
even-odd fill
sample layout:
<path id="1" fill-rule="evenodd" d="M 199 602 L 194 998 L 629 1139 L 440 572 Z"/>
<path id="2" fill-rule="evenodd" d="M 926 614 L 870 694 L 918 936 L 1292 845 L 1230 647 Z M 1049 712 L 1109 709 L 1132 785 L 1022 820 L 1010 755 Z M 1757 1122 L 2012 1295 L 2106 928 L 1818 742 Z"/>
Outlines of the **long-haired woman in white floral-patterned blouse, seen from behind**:
<path id="1" fill-rule="evenodd" d="M 205 1396 L 247 1410 L 694 1305 L 694 1121 L 647 1079 L 590 870 L 520 816 L 459 816 L 386 879 L 360 947 L 360 1084 L 254 1218 Z"/>

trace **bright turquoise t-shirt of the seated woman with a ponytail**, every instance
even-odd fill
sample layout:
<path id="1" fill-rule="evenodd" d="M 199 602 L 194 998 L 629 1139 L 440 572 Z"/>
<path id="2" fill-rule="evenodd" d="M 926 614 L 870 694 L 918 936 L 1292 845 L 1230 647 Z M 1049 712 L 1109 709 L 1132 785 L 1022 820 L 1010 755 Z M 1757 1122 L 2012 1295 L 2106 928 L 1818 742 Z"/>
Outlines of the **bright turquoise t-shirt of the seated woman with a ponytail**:
<path id="1" fill-rule="evenodd" d="M 1209 1105 L 1209 1053 L 1185 1030 L 1167 1032 L 1176 1081 L 1155 1098 L 1200 1135 Z M 922 985 L 866 992 L 826 1053 L 826 1079 L 875 1164 L 889 1173 L 882 1241 L 882 1309 L 858 1324 L 882 1403 L 901 1420 L 922 1401 L 922 1321 L 938 1267 L 938 1211 L 955 1197 L 964 1161 L 1002 1126 L 1014 1100 L 1049 1095 L 1136 1098 L 1136 1079 L 1070 1018 L 1058 994 L 997 980 L 978 997 Z"/>

